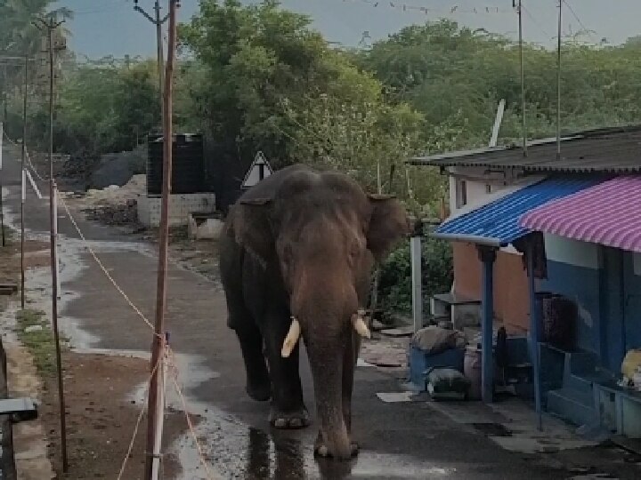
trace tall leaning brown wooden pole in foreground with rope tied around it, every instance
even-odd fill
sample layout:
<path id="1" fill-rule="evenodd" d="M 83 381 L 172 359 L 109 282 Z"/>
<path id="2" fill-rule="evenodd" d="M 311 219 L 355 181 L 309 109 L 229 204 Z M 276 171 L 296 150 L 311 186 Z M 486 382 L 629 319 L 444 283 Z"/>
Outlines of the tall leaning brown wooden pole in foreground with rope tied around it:
<path id="1" fill-rule="evenodd" d="M 169 44 L 164 88 L 163 116 L 163 186 L 160 210 L 160 233 L 158 252 L 158 290 L 156 297 L 156 324 L 151 345 L 151 378 L 149 404 L 147 408 L 147 457 L 145 459 L 144 480 L 158 480 L 160 469 L 160 446 L 162 420 L 165 408 L 164 364 L 166 349 L 165 310 L 167 283 L 167 255 L 169 250 L 169 196 L 172 180 L 173 132 L 173 81 L 176 50 L 176 11 L 178 0 L 169 0 Z"/>

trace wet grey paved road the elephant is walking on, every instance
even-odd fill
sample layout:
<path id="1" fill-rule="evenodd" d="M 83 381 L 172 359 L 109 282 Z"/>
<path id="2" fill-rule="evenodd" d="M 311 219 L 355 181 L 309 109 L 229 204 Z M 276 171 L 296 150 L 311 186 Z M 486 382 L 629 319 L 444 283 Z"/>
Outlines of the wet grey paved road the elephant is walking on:
<path id="1" fill-rule="evenodd" d="M 20 212 L 20 168 L 5 151 L 4 186 L 7 220 Z M 44 184 L 40 184 L 43 193 Z M 48 235 L 46 200 L 28 193 L 27 227 L 31 236 Z M 153 248 L 132 241 L 117 228 L 80 220 L 95 252 L 131 300 L 153 318 L 157 257 Z M 136 316 L 85 251 L 64 215 L 61 231 L 61 325 L 77 348 L 138 350 L 150 348 L 151 332 Z M 28 277 L 28 289 L 48 288 L 48 270 Z M 567 478 L 524 455 L 507 452 L 478 432 L 455 424 L 424 403 L 385 404 L 377 392 L 399 391 L 396 379 L 371 367 L 359 368 L 353 399 L 354 436 L 361 444 L 349 463 L 316 461 L 316 429 L 279 432 L 269 428 L 268 404 L 245 395 L 245 372 L 233 333 L 225 326 L 220 285 L 173 265 L 169 272 L 166 320 L 171 344 L 180 354 L 180 382 L 189 410 L 201 416 L 199 438 L 207 463 L 220 478 Z M 302 375 L 307 407 L 314 412 L 306 359 Z M 140 396 L 140 392 L 132 395 Z M 177 398 L 172 404 L 178 407 Z M 183 478 L 207 478 L 190 436 L 167 448 L 178 453 Z"/>

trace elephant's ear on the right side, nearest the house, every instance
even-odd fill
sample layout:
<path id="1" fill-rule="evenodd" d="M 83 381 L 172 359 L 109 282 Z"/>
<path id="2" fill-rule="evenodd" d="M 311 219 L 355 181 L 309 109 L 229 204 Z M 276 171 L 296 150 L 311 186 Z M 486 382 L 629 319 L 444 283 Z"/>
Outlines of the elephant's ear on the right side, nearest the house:
<path id="1" fill-rule="evenodd" d="M 381 261 L 395 244 L 410 235 L 410 219 L 395 196 L 369 195 L 368 197 L 372 207 L 367 231 L 368 249 L 377 261 Z"/>

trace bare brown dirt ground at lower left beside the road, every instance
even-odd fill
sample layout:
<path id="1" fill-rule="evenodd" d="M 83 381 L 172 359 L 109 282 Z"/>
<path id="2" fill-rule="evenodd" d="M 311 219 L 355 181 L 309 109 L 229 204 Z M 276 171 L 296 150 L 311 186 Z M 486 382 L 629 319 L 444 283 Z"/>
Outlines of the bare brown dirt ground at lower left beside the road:
<path id="1" fill-rule="evenodd" d="M 134 427 L 144 407 L 130 399 L 132 392 L 149 377 L 149 363 L 140 358 L 77 354 L 64 358 L 67 404 L 69 475 L 66 479 L 118 478 L 129 449 Z M 55 471 L 61 471 L 60 410 L 54 378 L 45 383 L 42 419 L 49 437 Z M 146 415 L 142 417 L 123 479 L 142 478 Z M 183 434 L 182 412 L 169 412 L 165 419 L 165 444 Z M 177 459 L 163 459 L 164 478 L 179 473 Z"/>

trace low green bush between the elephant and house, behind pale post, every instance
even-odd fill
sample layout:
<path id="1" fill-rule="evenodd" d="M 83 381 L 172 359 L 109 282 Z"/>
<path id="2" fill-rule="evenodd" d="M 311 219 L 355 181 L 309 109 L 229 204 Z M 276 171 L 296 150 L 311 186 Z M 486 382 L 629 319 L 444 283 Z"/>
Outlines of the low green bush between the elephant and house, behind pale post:
<path id="1" fill-rule="evenodd" d="M 422 244 L 423 298 L 435 293 L 449 292 L 453 279 L 451 244 L 432 236 Z M 390 254 L 380 269 L 378 284 L 380 308 L 387 313 L 411 311 L 410 242 Z"/>

